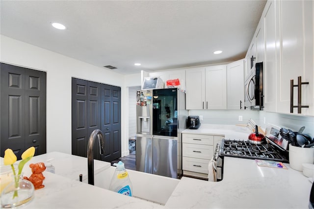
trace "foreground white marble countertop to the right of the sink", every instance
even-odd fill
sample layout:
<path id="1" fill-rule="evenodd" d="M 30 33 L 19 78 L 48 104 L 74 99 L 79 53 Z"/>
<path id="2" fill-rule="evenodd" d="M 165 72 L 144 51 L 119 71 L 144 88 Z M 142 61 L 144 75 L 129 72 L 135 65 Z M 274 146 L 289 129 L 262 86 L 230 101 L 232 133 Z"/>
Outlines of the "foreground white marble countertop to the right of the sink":
<path id="1" fill-rule="evenodd" d="M 312 183 L 302 172 L 258 166 L 253 159 L 225 157 L 221 182 L 183 177 L 166 207 L 307 209 Z"/>

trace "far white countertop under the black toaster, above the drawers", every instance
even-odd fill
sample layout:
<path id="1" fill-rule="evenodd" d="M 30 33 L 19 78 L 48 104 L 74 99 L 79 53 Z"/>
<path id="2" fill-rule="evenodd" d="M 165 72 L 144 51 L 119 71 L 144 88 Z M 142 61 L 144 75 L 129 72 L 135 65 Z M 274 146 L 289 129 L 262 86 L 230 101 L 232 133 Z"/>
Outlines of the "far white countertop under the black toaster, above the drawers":
<path id="1" fill-rule="evenodd" d="M 224 135 L 225 139 L 247 140 L 252 131 L 243 126 L 202 124 L 199 129 L 185 129 L 182 133 Z"/>

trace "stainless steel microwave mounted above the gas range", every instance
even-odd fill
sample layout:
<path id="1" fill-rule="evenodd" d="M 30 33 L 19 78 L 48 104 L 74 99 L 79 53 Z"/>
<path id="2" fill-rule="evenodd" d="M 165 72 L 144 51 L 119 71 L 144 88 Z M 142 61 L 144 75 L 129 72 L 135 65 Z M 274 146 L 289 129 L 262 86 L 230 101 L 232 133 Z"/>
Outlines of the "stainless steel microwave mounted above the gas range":
<path id="1" fill-rule="evenodd" d="M 244 108 L 263 109 L 263 63 L 258 62 L 245 78 Z"/>

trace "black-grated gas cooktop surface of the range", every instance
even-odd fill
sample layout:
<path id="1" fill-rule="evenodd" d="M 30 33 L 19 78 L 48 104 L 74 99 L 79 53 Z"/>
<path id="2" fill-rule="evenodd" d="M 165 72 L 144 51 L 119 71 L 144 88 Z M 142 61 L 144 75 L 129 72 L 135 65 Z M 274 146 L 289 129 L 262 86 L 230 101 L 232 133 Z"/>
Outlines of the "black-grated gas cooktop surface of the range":
<path id="1" fill-rule="evenodd" d="M 241 157 L 288 162 L 287 153 L 281 152 L 270 143 L 253 144 L 243 140 L 223 139 L 220 144 L 219 157 Z"/>

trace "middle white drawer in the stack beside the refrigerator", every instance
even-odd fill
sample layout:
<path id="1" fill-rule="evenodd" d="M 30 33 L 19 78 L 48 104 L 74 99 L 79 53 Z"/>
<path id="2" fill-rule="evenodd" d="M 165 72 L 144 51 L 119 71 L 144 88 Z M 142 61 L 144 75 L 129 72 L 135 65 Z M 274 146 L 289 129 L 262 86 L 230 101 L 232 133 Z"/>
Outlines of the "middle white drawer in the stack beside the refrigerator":
<path id="1" fill-rule="evenodd" d="M 203 144 L 182 144 L 182 155 L 184 157 L 196 157 L 210 159 L 213 156 L 213 146 Z"/>

